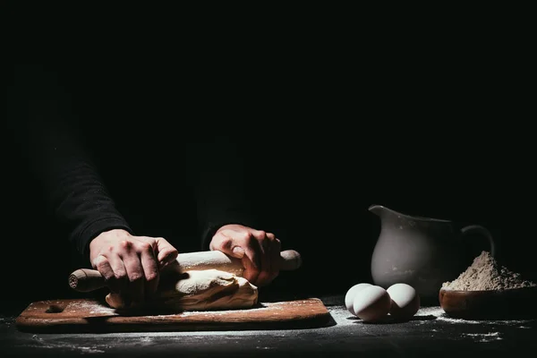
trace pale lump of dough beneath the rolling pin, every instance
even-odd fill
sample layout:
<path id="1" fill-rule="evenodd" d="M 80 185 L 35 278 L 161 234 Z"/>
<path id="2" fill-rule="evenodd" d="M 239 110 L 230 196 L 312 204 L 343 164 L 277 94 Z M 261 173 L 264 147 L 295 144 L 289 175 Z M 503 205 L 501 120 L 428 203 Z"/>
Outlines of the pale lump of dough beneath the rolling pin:
<path id="1" fill-rule="evenodd" d="M 124 308 L 117 294 L 107 294 L 112 308 Z M 258 302 L 258 288 L 243 278 L 217 269 L 190 270 L 180 277 L 163 277 L 155 305 L 173 311 L 249 308 Z"/>

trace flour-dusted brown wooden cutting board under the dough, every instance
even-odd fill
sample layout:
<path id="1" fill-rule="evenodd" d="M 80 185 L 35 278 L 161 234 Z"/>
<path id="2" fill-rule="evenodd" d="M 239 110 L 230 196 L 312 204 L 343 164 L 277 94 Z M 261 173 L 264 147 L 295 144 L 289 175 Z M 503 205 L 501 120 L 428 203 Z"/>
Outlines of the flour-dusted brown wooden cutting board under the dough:
<path id="1" fill-rule="evenodd" d="M 246 310 L 118 312 L 94 299 L 30 303 L 16 320 L 24 332 L 141 332 L 325 327 L 334 323 L 318 298 L 259 303 Z"/>

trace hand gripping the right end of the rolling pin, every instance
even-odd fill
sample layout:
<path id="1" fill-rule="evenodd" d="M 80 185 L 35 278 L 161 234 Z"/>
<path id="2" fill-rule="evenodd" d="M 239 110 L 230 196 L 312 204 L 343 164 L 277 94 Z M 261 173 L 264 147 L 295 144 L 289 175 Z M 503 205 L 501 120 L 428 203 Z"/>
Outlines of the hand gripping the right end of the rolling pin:
<path id="1" fill-rule="evenodd" d="M 243 277 L 255 286 L 267 286 L 279 274 L 281 243 L 272 233 L 235 224 L 222 226 L 209 249 L 242 259 Z"/>

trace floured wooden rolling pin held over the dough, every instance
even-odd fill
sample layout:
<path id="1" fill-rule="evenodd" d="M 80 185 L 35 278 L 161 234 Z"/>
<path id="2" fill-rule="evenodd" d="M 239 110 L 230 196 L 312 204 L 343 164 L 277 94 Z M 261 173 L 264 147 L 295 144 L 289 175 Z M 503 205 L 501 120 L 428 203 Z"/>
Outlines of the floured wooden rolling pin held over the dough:
<path id="1" fill-rule="evenodd" d="M 297 251 L 280 252 L 280 270 L 291 271 L 302 265 L 302 258 Z M 177 255 L 177 260 L 163 269 L 163 273 L 198 269 L 216 268 L 221 271 L 243 276 L 243 263 L 240 259 L 226 255 L 222 251 L 184 252 Z M 107 286 L 105 278 L 96 269 L 79 268 L 69 275 L 69 286 L 78 292 L 90 292 Z"/>

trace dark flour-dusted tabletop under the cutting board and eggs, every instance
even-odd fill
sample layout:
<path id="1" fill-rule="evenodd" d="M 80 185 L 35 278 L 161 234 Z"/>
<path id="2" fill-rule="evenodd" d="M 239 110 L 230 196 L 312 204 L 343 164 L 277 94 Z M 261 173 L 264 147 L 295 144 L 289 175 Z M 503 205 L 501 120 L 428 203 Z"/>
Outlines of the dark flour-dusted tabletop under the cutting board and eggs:
<path id="1" fill-rule="evenodd" d="M 422 307 L 405 323 L 366 324 L 345 310 L 344 296 L 321 296 L 333 324 L 323 328 L 110 334 L 33 334 L 17 330 L 25 308 L 3 302 L 0 356 L 533 356 L 537 320 L 464 321 Z"/>

